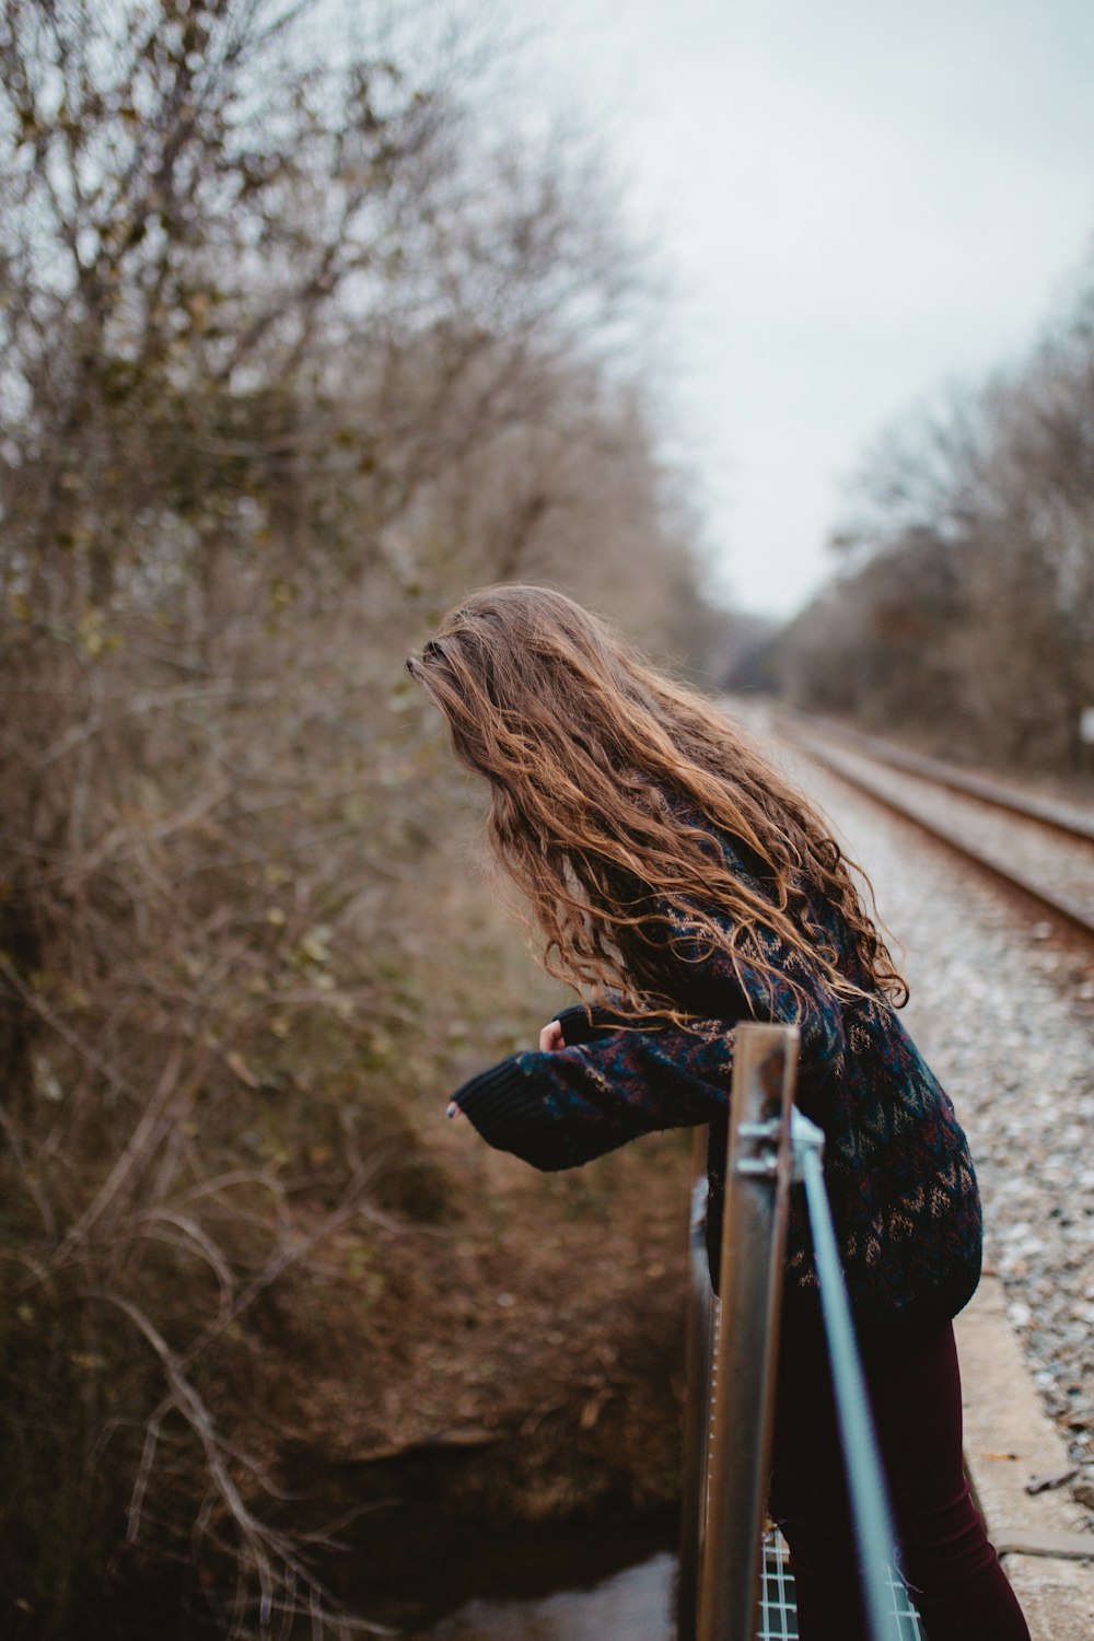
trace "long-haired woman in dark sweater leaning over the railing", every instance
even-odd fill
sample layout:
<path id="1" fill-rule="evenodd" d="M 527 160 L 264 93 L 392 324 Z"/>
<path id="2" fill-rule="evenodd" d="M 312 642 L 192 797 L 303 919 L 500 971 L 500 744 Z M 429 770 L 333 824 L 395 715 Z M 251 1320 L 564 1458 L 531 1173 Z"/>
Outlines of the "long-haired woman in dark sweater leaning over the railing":
<path id="1" fill-rule="evenodd" d="M 407 663 L 490 784 L 492 847 L 548 970 L 589 998 L 466 1083 L 489 1144 L 569 1168 L 710 1122 L 725 1155 L 733 1022 L 795 1022 L 825 1177 L 930 1641 L 1028 1641 L 961 1465 L 951 1318 L 979 1278 L 973 1163 L 894 1008 L 907 986 L 823 820 L 738 727 L 571 599 L 487 587 Z M 712 1168 L 717 1221 L 720 1178 Z M 817 1278 L 792 1193 L 771 1513 L 802 1641 L 864 1636 Z M 712 1239 L 712 1246 L 717 1241 Z"/>

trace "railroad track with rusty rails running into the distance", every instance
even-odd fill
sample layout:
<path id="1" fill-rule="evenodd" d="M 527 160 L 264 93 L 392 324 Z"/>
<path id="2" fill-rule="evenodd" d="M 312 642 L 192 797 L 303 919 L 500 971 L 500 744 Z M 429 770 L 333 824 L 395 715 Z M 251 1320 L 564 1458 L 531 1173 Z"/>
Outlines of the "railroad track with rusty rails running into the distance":
<path id="1" fill-rule="evenodd" d="M 1094 822 L 1081 811 L 800 714 L 779 714 L 777 732 L 1094 942 Z"/>

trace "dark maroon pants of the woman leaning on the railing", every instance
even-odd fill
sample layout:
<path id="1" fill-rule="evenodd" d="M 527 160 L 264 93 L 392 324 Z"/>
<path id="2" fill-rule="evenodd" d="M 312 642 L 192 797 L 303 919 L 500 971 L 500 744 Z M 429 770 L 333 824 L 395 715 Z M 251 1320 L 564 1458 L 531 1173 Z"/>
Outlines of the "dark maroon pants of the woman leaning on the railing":
<path id="1" fill-rule="evenodd" d="M 900 1570 L 928 1641 L 1030 1641 L 961 1460 L 953 1328 L 861 1342 Z M 820 1326 L 784 1326 L 771 1515 L 791 1546 L 802 1641 L 868 1641 L 828 1355 Z"/>

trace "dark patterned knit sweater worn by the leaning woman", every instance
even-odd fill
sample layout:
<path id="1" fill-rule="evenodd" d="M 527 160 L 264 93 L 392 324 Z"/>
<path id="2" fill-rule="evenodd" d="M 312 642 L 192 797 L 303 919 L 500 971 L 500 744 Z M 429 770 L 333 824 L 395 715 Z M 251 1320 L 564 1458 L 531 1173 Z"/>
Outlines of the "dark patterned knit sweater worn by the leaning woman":
<path id="1" fill-rule="evenodd" d="M 763 893 L 758 863 L 720 839 L 727 862 Z M 810 919 L 835 944 L 840 970 L 866 976 L 835 907 L 810 898 Z M 979 1280 L 976 1177 L 953 1104 L 881 996 L 846 1001 L 777 937 L 763 934 L 774 983 L 735 968 L 725 950 L 687 942 L 677 919 L 663 985 L 687 1029 L 622 1026 L 584 1004 L 558 1016 L 566 1047 L 515 1054 L 453 1096 L 481 1136 L 536 1168 L 572 1168 L 640 1134 L 710 1122 L 709 1242 L 718 1246 L 733 1072 L 732 1027 L 797 1024 L 797 1104 L 825 1134 L 825 1182 L 859 1326 L 932 1326 L 955 1316 Z M 792 985 L 787 983 L 792 980 Z M 817 1306 L 800 1186 L 791 1193 L 784 1303 Z"/>

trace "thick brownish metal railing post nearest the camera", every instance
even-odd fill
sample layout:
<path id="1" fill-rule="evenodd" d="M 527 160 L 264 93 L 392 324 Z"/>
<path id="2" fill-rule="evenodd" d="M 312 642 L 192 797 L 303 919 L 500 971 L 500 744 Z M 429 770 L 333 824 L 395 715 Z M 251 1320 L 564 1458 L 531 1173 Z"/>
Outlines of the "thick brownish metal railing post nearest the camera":
<path id="1" fill-rule="evenodd" d="M 736 1027 L 697 1641 L 754 1636 L 795 1070 L 792 1026 Z"/>

